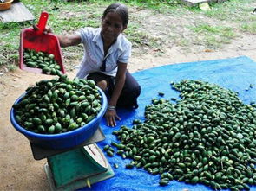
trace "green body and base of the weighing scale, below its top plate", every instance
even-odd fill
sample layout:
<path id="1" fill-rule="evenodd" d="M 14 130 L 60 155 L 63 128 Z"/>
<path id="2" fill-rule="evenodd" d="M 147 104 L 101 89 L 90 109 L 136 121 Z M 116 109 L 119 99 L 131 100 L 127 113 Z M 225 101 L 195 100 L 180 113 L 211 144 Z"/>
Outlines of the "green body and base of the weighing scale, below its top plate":
<path id="1" fill-rule="evenodd" d="M 115 175 L 95 143 L 48 158 L 44 171 L 52 191 L 91 190 L 91 184 Z"/>

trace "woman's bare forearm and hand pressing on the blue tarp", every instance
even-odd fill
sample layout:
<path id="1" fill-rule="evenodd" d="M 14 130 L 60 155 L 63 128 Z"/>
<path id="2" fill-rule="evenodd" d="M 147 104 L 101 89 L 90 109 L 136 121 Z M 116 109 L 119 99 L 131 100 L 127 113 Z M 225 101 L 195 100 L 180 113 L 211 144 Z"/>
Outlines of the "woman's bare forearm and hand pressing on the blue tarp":
<path id="1" fill-rule="evenodd" d="M 124 86 L 125 82 L 125 76 L 126 76 L 126 71 L 127 71 L 127 64 L 126 63 L 118 63 L 118 69 L 117 73 L 115 76 L 115 87 L 114 91 L 112 93 L 112 96 L 108 102 L 108 105 L 115 106 L 117 103 L 117 100 L 119 99 L 119 96 L 121 94 L 121 90 Z M 107 119 L 108 126 L 115 126 L 115 118 L 119 119 L 120 118 L 117 116 L 115 110 L 107 110 L 105 117 Z"/>

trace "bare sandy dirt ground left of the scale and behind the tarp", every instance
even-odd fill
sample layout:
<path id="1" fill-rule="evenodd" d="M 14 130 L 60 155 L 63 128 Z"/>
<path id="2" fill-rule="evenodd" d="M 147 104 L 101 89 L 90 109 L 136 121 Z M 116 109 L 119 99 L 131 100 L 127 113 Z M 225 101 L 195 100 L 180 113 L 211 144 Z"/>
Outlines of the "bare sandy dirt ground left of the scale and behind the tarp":
<path id="1" fill-rule="evenodd" d="M 179 21 L 181 22 L 181 21 Z M 135 48 L 128 69 L 130 72 L 150 67 L 181 62 L 217 60 L 246 55 L 256 61 L 256 39 L 253 35 L 237 37 L 231 44 L 219 51 L 207 51 L 191 45 L 189 53 L 178 46 L 164 48 L 164 54 L 157 56 L 154 52 L 146 54 Z M 70 60 L 65 60 L 69 63 Z M 74 62 L 73 62 L 74 63 Z M 75 61 L 79 64 L 79 60 Z M 76 71 L 68 72 L 70 78 Z M 16 131 L 10 124 L 10 108 L 14 101 L 28 86 L 36 81 L 50 79 L 50 76 L 28 73 L 17 69 L 15 72 L 1 73 L 0 76 L 0 190 L 49 190 L 48 181 L 43 170 L 46 159 L 36 161 L 26 137 Z M 143 88 L 143 87 L 142 87 Z"/>

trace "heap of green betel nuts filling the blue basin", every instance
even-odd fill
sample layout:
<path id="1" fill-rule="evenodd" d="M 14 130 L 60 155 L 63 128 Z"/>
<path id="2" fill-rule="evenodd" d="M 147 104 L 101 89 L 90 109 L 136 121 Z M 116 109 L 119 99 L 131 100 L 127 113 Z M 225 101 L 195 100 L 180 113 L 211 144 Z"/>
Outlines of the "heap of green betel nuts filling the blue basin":
<path id="1" fill-rule="evenodd" d="M 13 105 L 16 122 L 28 131 L 57 134 L 88 124 L 102 109 L 102 96 L 93 80 L 60 75 L 41 80 Z"/>

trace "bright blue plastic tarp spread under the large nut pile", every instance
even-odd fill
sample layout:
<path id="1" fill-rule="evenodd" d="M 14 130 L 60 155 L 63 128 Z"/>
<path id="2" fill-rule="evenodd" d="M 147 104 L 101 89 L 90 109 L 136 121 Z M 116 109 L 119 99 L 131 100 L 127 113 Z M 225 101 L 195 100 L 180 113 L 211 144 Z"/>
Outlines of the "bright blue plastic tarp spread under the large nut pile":
<path id="1" fill-rule="evenodd" d="M 152 99 L 160 98 L 158 92 L 165 93 L 163 99 L 178 98 L 179 92 L 175 92 L 171 88 L 170 81 L 179 82 L 185 79 L 204 80 L 239 92 L 240 99 L 246 104 L 249 104 L 251 101 L 256 102 L 256 62 L 246 56 L 154 67 L 133 73 L 133 76 L 135 76 L 135 79 L 141 85 L 141 96 L 138 99 L 139 108 L 135 111 L 117 111 L 121 117 L 121 121 L 118 121 L 115 127 L 108 127 L 105 120 L 102 120 L 101 127 L 106 139 L 97 143 L 100 148 L 103 148 L 106 144 L 110 144 L 111 141 L 119 142 L 112 135 L 112 132 L 119 130 L 121 125 L 132 127 L 134 119 L 141 119 L 143 121 L 145 106 L 150 105 Z M 253 84 L 254 87 L 249 88 L 250 84 Z M 144 169 L 126 169 L 125 165 L 130 160 L 122 159 L 119 155 L 115 154 L 114 157 L 105 156 L 112 166 L 115 176 L 108 180 L 95 183 L 89 190 L 212 190 L 201 184 L 191 185 L 179 181 L 171 181 L 166 187 L 160 187 L 160 175 L 150 175 Z M 114 163 L 119 165 L 118 169 L 113 167 Z M 256 190 L 256 187 L 252 187 L 251 190 Z"/>

